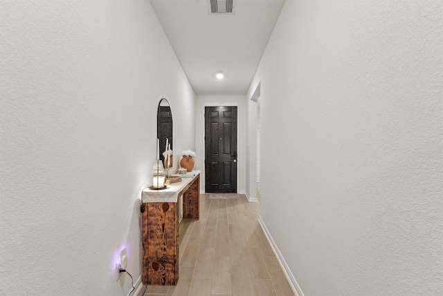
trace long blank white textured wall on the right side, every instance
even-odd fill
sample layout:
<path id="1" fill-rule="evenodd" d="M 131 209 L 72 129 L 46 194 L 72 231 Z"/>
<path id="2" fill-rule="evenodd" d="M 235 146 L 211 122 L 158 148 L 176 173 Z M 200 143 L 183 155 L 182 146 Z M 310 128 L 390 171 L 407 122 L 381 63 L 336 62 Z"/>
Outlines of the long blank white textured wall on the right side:
<path id="1" fill-rule="evenodd" d="M 443 294 L 442 14 L 284 4 L 248 97 L 260 215 L 305 295 Z"/>

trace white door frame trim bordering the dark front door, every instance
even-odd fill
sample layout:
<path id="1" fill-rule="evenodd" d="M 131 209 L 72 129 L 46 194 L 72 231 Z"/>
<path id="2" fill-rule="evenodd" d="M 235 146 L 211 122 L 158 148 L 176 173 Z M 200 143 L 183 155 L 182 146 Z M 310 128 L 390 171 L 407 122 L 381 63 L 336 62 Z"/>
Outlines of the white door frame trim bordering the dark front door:
<path id="1" fill-rule="evenodd" d="M 204 102 L 203 103 L 203 111 L 201 116 L 203 117 L 203 130 L 201 133 L 201 139 L 203 139 L 203 146 L 202 146 L 202 158 L 201 158 L 201 167 L 202 167 L 202 171 L 201 171 L 201 176 L 205 176 L 206 175 L 206 168 L 205 168 L 205 159 L 206 159 L 206 151 L 205 151 L 205 107 L 217 107 L 217 106 L 224 106 L 224 107 L 237 107 L 237 193 L 241 193 L 239 190 L 239 186 L 240 186 L 240 173 L 241 169 L 240 169 L 240 162 L 242 161 L 242 157 L 240 155 L 240 150 L 239 150 L 239 143 L 240 143 L 240 104 L 237 102 Z M 204 184 L 203 185 L 203 193 L 206 193 L 206 180 L 201 180 L 201 182 Z"/>

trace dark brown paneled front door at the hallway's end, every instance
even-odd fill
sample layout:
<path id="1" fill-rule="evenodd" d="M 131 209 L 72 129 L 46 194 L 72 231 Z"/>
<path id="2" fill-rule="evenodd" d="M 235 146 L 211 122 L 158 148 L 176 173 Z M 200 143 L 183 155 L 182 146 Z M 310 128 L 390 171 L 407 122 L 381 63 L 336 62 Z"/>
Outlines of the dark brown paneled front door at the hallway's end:
<path id="1" fill-rule="evenodd" d="M 205 191 L 237 193 L 237 107 L 205 107 Z"/>

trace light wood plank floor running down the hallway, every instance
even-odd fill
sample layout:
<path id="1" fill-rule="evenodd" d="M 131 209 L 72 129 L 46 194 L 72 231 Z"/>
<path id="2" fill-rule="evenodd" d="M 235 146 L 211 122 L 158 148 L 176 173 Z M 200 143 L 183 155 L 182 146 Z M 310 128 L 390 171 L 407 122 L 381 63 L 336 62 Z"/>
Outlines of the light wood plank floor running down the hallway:
<path id="1" fill-rule="evenodd" d="M 292 296 L 258 223 L 259 202 L 200 195 L 200 220 L 179 226 L 179 284 L 143 287 L 138 296 Z"/>

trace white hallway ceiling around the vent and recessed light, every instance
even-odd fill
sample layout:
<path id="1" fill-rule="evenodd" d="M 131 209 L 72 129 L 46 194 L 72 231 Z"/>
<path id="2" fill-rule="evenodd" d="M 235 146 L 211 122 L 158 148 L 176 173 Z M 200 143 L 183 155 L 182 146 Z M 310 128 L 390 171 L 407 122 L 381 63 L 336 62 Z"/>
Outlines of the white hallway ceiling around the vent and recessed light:
<path id="1" fill-rule="evenodd" d="M 198 96 L 246 94 L 284 3 L 234 0 L 235 13 L 213 15 L 209 0 L 150 1 Z"/>

